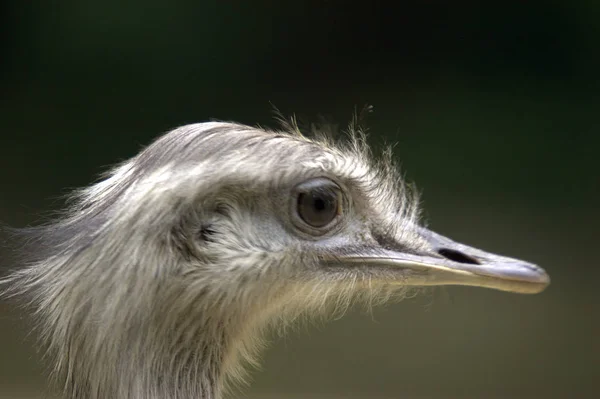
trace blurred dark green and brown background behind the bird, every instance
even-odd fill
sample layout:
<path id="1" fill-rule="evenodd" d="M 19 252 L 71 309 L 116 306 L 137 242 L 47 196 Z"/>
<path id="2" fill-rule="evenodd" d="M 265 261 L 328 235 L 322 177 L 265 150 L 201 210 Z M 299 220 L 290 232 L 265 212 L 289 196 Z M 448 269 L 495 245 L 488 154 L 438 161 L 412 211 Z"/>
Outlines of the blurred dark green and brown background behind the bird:
<path id="1" fill-rule="evenodd" d="M 438 232 L 538 263 L 525 296 L 435 289 L 274 339 L 239 398 L 600 397 L 600 3 L 13 1 L 0 21 L 0 221 L 176 126 L 344 126 L 371 104 Z M 3 265 L 7 270 L 12 265 Z M 0 302 L 0 398 L 45 397 Z"/>

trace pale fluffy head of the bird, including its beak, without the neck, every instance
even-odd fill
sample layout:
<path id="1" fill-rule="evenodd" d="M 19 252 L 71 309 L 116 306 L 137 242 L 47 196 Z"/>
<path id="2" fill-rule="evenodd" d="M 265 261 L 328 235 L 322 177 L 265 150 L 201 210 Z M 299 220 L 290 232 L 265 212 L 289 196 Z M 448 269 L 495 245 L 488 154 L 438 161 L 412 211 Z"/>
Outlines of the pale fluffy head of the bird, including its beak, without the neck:
<path id="1" fill-rule="evenodd" d="M 268 281 L 288 295 L 305 286 L 313 293 L 432 285 L 537 293 L 549 283 L 531 263 L 421 226 L 416 192 L 390 153 L 373 156 L 360 130 L 333 143 L 294 129 L 192 125 L 125 168 L 117 174 L 137 179 L 139 198 L 124 195 L 131 205 L 121 209 L 141 212 L 141 232 L 168 237 L 169 255 L 180 258 L 175 270 L 226 287 L 238 281 L 242 292 L 269 292 Z"/>

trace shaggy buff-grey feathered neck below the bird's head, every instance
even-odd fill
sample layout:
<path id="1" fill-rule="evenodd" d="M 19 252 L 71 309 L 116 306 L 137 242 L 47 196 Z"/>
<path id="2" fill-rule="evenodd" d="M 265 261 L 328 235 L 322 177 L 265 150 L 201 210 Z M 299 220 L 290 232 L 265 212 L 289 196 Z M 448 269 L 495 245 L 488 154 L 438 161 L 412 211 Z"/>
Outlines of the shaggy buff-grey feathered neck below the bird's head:
<path id="1" fill-rule="evenodd" d="M 244 380 L 243 365 L 254 363 L 264 327 L 290 295 L 272 288 L 225 297 L 173 284 L 121 297 L 109 291 L 107 301 L 77 288 L 92 293 L 81 300 L 87 307 L 48 312 L 48 325 L 60 327 L 48 340 L 69 399 L 220 399 L 231 380 Z M 62 308 L 79 303 L 72 297 L 73 289 L 56 294 Z"/>

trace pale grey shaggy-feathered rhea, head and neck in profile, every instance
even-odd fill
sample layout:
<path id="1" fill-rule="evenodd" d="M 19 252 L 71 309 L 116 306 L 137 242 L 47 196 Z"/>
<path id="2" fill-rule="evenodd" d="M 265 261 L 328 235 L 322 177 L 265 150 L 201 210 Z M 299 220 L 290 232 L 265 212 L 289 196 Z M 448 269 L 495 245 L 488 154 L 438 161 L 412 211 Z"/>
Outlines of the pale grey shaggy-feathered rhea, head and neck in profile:
<path id="1" fill-rule="evenodd" d="M 540 267 L 435 233 L 368 131 L 178 127 L 16 230 L 2 295 L 30 309 L 64 398 L 221 399 L 265 333 L 422 287 L 534 294 Z"/>

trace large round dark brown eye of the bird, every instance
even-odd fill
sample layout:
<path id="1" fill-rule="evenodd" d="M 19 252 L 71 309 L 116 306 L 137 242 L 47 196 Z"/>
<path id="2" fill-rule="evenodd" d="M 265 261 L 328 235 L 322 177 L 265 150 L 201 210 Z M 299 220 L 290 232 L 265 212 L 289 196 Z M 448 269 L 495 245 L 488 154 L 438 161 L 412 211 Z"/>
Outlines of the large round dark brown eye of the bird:
<path id="1" fill-rule="evenodd" d="M 297 216 L 313 229 L 330 226 L 342 212 L 341 189 L 329 179 L 317 178 L 296 187 Z"/>

